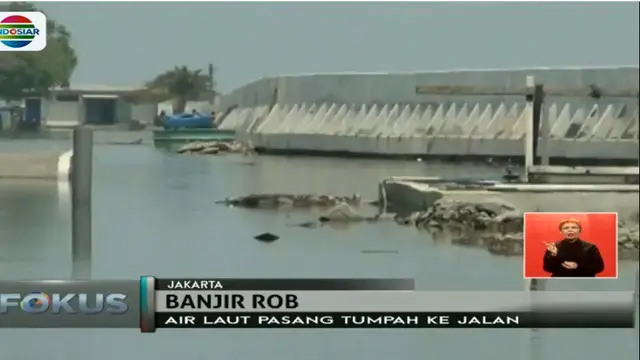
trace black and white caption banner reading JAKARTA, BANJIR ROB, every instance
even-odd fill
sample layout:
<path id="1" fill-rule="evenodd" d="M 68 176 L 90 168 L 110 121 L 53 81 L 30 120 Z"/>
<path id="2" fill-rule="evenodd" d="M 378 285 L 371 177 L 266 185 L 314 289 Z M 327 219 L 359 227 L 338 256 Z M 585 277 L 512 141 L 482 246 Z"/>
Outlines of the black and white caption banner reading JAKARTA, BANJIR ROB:
<path id="1" fill-rule="evenodd" d="M 574 310 L 558 311 L 553 302 L 567 304 L 563 298 L 566 293 L 559 293 L 554 299 L 552 292 L 545 292 L 545 298 L 551 302 L 536 305 L 535 296 L 532 300 L 532 294 L 526 292 L 421 292 L 411 291 L 412 284 L 399 286 L 383 280 L 368 281 L 160 279 L 154 284 L 153 316 L 146 323 L 142 321 L 141 328 L 144 332 L 153 332 L 155 328 L 633 326 L 633 316 L 628 316 L 626 308 L 593 306 L 593 301 L 592 306 L 586 308 L 580 304 L 584 294 L 573 295 Z M 611 305 L 606 300 L 603 299 L 603 305 Z"/>

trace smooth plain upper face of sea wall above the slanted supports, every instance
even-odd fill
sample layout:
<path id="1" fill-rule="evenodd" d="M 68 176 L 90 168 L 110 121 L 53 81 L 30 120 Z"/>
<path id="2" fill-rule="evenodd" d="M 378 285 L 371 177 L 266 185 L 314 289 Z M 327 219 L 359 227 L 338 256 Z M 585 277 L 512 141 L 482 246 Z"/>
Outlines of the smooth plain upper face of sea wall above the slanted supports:
<path id="1" fill-rule="evenodd" d="M 503 90 L 523 88 L 527 75 L 553 89 L 583 89 L 596 84 L 612 91 L 638 89 L 639 67 L 574 67 L 442 70 L 424 73 L 317 73 L 265 77 L 221 97 L 222 109 L 256 107 L 274 103 L 402 104 L 443 103 L 452 100 L 484 102 L 487 94 L 419 94 L 421 86 L 485 87 Z M 604 98 L 603 98 L 604 99 Z M 492 101 L 511 101 L 508 95 L 491 95 Z M 551 99 L 549 99 L 551 100 Z M 565 99 L 557 99 L 558 101 Z M 572 100 L 573 101 L 573 100 Z M 617 100 L 616 100 L 617 101 Z"/>

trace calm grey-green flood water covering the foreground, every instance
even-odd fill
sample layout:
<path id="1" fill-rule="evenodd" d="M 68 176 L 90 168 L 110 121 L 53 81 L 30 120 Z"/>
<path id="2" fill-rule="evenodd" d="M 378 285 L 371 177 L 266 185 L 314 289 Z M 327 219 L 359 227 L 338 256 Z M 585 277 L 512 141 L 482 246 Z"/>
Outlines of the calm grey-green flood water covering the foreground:
<path id="1" fill-rule="evenodd" d="M 68 148 L 65 141 L 4 141 L 0 151 Z M 94 249 L 98 279 L 157 277 L 412 277 L 419 290 L 521 290 L 520 258 L 433 242 L 394 223 L 303 229 L 273 212 L 214 201 L 257 192 L 360 193 L 373 198 L 390 175 L 486 176 L 486 166 L 381 160 L 178 156 L 151 146 L 97 145 Z M 0 182 L 0 279 L 70 278 L 68 189 Z M 272 244 L 252 237 L 278 234 Z M 395 250 L 367 254 L 363 250 Z M 636 263 L 620 278 L 561 281 L 553 290 L 633 290 Z M 28 332 L 28 336 L 27 335 Z M 424 360 L 637 359 L 637 330 L 0 330 L 1 360 Z M 634 341 L 635 340 L 635 341 Z"/>

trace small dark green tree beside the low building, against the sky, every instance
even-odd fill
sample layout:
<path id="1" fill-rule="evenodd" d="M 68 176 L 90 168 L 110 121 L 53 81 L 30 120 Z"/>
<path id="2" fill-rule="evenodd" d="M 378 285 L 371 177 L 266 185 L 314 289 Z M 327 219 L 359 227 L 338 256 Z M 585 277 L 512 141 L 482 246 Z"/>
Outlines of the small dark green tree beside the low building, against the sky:
<path id="1" fill-rule="evenodd" d="M 187 66 L 176 66 L 147 83 L 147 89 L 165 91 L 174 99 L 174 113 L 184 112 L 187 101 L 199 100 L 205 94 L 212 94 L 213 86 L 212 76 L 203 74 L 202 70 L 191 70 Z"/>

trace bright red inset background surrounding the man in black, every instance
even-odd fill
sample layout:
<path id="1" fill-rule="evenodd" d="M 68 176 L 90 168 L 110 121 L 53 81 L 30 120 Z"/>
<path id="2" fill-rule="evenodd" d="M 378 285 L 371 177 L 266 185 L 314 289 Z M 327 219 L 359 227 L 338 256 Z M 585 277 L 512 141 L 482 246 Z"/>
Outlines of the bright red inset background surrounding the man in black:
<path id="1" fill-rule="evenodd" d="M 604 270 L 599 278 L 618 276 L 618 216 L 616 213 L 526 213 L 524 215 L 524 277 L 546 278 L 542 269 L 545 242 L 562 240 L 560 221 L 574 218 L 582 224 L 580 239 L 598 246 Z"/>

